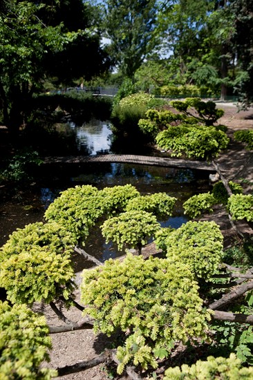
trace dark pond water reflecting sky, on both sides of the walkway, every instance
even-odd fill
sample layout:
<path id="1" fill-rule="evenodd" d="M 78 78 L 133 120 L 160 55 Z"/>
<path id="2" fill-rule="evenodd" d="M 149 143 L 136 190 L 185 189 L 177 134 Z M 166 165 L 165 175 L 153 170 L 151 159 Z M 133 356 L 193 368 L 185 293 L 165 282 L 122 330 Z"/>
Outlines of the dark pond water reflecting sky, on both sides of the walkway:
<path id="1" fill-rule="evenodd" d="M 111 131 L 106 122 L 94 121 L 75 129 L 77 144 L 90 154 L 110 151 Z M 0 188 L 0 246 L 6 243 L 8 235 L 17 227 L 23 228 L 31 222 L 43 221 L 44 212 L 60 191 L 77 184 L 91 184 L 98 189 L 115 185 L 133 184 L 140 193 L 165 192 L 178 200 L 174 214 L 167 220 L 160 220 L 163 227 L 180 227 L 187 222 L 182 203 L 196 193 L 209 191 L 209 173 L 191 169 L 169 169 L 131 164 L 91 163 L 40 168 L 34 182 L 26 187 Z M 100 228 L 95 227 L 84 247 L 88 254 L 104 261 L 120 256 L 111 244 L 104 243 Z M 79 256 L 75 257 L 77 270 L 87 267 Z"/>

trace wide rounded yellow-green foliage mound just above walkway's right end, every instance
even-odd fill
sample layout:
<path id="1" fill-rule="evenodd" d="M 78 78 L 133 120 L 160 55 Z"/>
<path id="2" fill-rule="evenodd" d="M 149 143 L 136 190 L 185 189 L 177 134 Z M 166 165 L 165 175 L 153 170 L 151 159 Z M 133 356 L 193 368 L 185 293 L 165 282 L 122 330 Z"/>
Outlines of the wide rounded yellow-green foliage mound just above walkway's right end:
<path id="1" fill-rule="evenodd" d="M 158 133 L 156 142 L 160 148 L 171 150 L 171 156 L 185 154 L 187 158 L 209 160 L 227 147 L 229 138 L 214 126 L 182 123 Z"/>

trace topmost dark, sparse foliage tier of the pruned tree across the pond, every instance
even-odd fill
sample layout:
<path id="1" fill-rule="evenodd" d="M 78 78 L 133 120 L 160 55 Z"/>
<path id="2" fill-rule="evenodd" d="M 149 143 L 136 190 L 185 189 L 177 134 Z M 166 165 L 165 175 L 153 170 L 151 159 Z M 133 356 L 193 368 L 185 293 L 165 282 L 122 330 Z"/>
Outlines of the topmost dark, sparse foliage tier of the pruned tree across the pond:
<path id="1" fill-rule="evenodd" d="M 224 115 L 224 111 L 217 109 L 214 102 L 203 102 L 198 97 L 188 97 L 184 101 L 173 100 L 170 104 L 176 108 L 176 110 L 187 116 L 195 117 L 196 120 L 205 123 L 207 126 L 213 125 Z M 198 115 L 194 115 L 194 111 L 196 111 Z"/>

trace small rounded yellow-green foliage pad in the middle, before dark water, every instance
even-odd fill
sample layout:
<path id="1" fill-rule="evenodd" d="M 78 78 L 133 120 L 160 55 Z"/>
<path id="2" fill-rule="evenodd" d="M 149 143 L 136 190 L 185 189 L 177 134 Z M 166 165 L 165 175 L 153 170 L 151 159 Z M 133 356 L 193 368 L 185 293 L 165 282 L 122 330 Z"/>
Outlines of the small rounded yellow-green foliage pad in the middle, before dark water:
<path id="1" fill-rule="evenodd" d="M 106 243 L 111 240 L 121 250 L 124 245 L 134 248 L 147 244 L 147 239 L 160 229 L 160 225 L 151 213 L 127 211 L 106 220 L 101 228 Z"/>

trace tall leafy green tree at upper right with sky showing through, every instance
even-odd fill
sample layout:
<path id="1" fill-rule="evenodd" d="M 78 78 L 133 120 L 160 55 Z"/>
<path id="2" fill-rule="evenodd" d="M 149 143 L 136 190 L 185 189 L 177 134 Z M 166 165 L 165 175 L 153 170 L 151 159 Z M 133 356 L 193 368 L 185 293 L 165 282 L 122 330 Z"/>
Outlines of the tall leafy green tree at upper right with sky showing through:
<path id="1" fill-rule="evenodd" d="M 160 39 L 176 68 L 176 82 L 218 85 L 225 98 L 234 64 L 233 28 L 226 1 L 165 1 L 159 14 Z"/>

